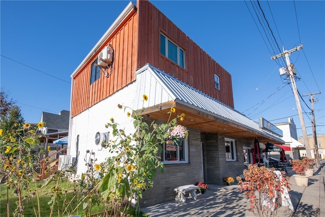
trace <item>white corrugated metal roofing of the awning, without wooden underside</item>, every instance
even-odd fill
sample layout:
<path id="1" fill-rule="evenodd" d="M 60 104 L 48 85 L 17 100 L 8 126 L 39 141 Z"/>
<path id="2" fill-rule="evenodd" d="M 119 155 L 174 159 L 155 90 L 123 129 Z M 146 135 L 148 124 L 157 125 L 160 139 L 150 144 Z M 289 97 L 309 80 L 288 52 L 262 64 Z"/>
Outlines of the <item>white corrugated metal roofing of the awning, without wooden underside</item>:
<path id="1" fill-rule="evenodd" d="M 143 101 L 142 96 L 149 96 Z M 235 109 L 204 94 L 202 91 L 176 79 L 175 77 L 146 64 L 137 71 L 137 89 L 134 109 L 139 110 L 161 103 L 175 101 L 186 106 L 210 113 L 213 116 L 244 126 L 253 131 L 282 140 L 258 127 L 258 123 Z M 283 141 L 284 142 L 284 141 Z"/>

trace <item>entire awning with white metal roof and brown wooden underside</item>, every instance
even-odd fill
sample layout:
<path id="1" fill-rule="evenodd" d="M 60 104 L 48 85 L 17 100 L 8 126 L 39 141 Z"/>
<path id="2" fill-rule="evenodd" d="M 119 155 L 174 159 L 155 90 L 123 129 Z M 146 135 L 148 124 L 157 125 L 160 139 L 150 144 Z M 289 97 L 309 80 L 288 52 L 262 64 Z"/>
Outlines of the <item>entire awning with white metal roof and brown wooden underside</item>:
<path id="1" fill-rule="evenodd" d="M 175 77 L 147 64 L 137 71 L 134 110 L 152 119 L 170 121 L 185 114 L 179 123 L 201 133 L 220 133 L 238 139 L 258 139 L 263 143 L 284 144 L 278 136 L 233 108 L 213 99 Z M 142 96 L 150 94 L 147 101 Z M 171 113 L 171 107 L 176 108 Z"/>

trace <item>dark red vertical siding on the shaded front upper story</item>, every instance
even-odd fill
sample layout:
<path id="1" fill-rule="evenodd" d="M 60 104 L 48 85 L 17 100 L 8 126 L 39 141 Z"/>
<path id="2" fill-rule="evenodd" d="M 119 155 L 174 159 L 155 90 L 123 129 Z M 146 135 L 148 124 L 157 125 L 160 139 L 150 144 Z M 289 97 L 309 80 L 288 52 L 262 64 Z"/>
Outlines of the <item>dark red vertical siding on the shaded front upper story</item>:
<path id="1" fill-rule="evenodd" d="M 137 1 L 137 5 L 140 23 L 138 68 L 150 63 L 226 105 L 234 107 L 231 75 L 150 2 Z M 184 49 L 185 69 L 160 55 L 160 33 L 164 33 Z M 220 90 L 214 88 L 214 74 L 219 76 Z"/>

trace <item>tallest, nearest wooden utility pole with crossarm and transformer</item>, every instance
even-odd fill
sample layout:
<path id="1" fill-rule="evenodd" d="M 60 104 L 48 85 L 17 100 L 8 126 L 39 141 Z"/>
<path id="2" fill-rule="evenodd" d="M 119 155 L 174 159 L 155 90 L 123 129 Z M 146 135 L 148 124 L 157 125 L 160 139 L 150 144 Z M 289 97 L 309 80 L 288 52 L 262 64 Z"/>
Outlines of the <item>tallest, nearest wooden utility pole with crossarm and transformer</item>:
<path id="1" fill-rule="evenodd" d="M 303 131 L 303 137 L 304 137 L 304 145 L 306 148 L 306 154 L 307 154 L 307 158 L 311 158 L 311 153 L 310 153 L 310 147 L 309 147 L 309 142 L 308 142 L 308 136 L 307 136 L 307 131 L 306 131 L 306 127 L 305 127 L 305 121 L 304 121 L 304 116 L 303 116 L 303 112 L 301 109 L 301 105 L 300 105 L 300 100 L 298 97 L 298 90 L 297 90 L 297 86 L 296 86 L 296 81 L 295 81 L 295 76 L 296 76 L 296 69 L 294 67 L 293 64 L 290 63 L 290 59 L 289 59 L 289 54 L 291 54 L 294 51 L 300 50 L 302 49 L 303 46 L 300 45 L 298 47 L 295 47 L 291 50 L 284 50 L 283 48 L 283 52 L 272 56 L 271 59 L 274 60 L 276 58 L 279 57 L 285 57 L 285 61 L 286 61 L 286 76 L 290 78 L 291 81 L 291 85 L 293 87 L 293 91 L 294 91 L 294 95 L 295 95 L 295 99 L 296 99 L 296 104 L 297 104 L 297 110 L 298 110 L 298 115 L 299 115 L 299 119 L 300 119 L 300 125 L 301 125 L 301 130 Z"/>

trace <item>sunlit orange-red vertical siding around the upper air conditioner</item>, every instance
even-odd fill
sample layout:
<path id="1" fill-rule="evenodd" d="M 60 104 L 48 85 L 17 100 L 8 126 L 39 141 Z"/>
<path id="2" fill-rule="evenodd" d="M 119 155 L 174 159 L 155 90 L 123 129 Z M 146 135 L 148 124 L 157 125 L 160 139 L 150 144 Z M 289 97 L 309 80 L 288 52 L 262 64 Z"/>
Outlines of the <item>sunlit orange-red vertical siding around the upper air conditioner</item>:
<path id="1" fill-rule="evenodd" d="M 136 79 L 136 63 L 138 48 L 138 15 L 136 11 L 126 17 L 122 23 L 108 36 L 100 48 L 87 60 L 86 64 L 74 75 L 72 87 L 72 117 L 88 109 L 94 104 L 114 94 Z M 98 80 L 90 84 L 91 64 L 105 46 L 112 44 L 114 49 L 114 64 L 105 76 L 102 69 Z"/>

